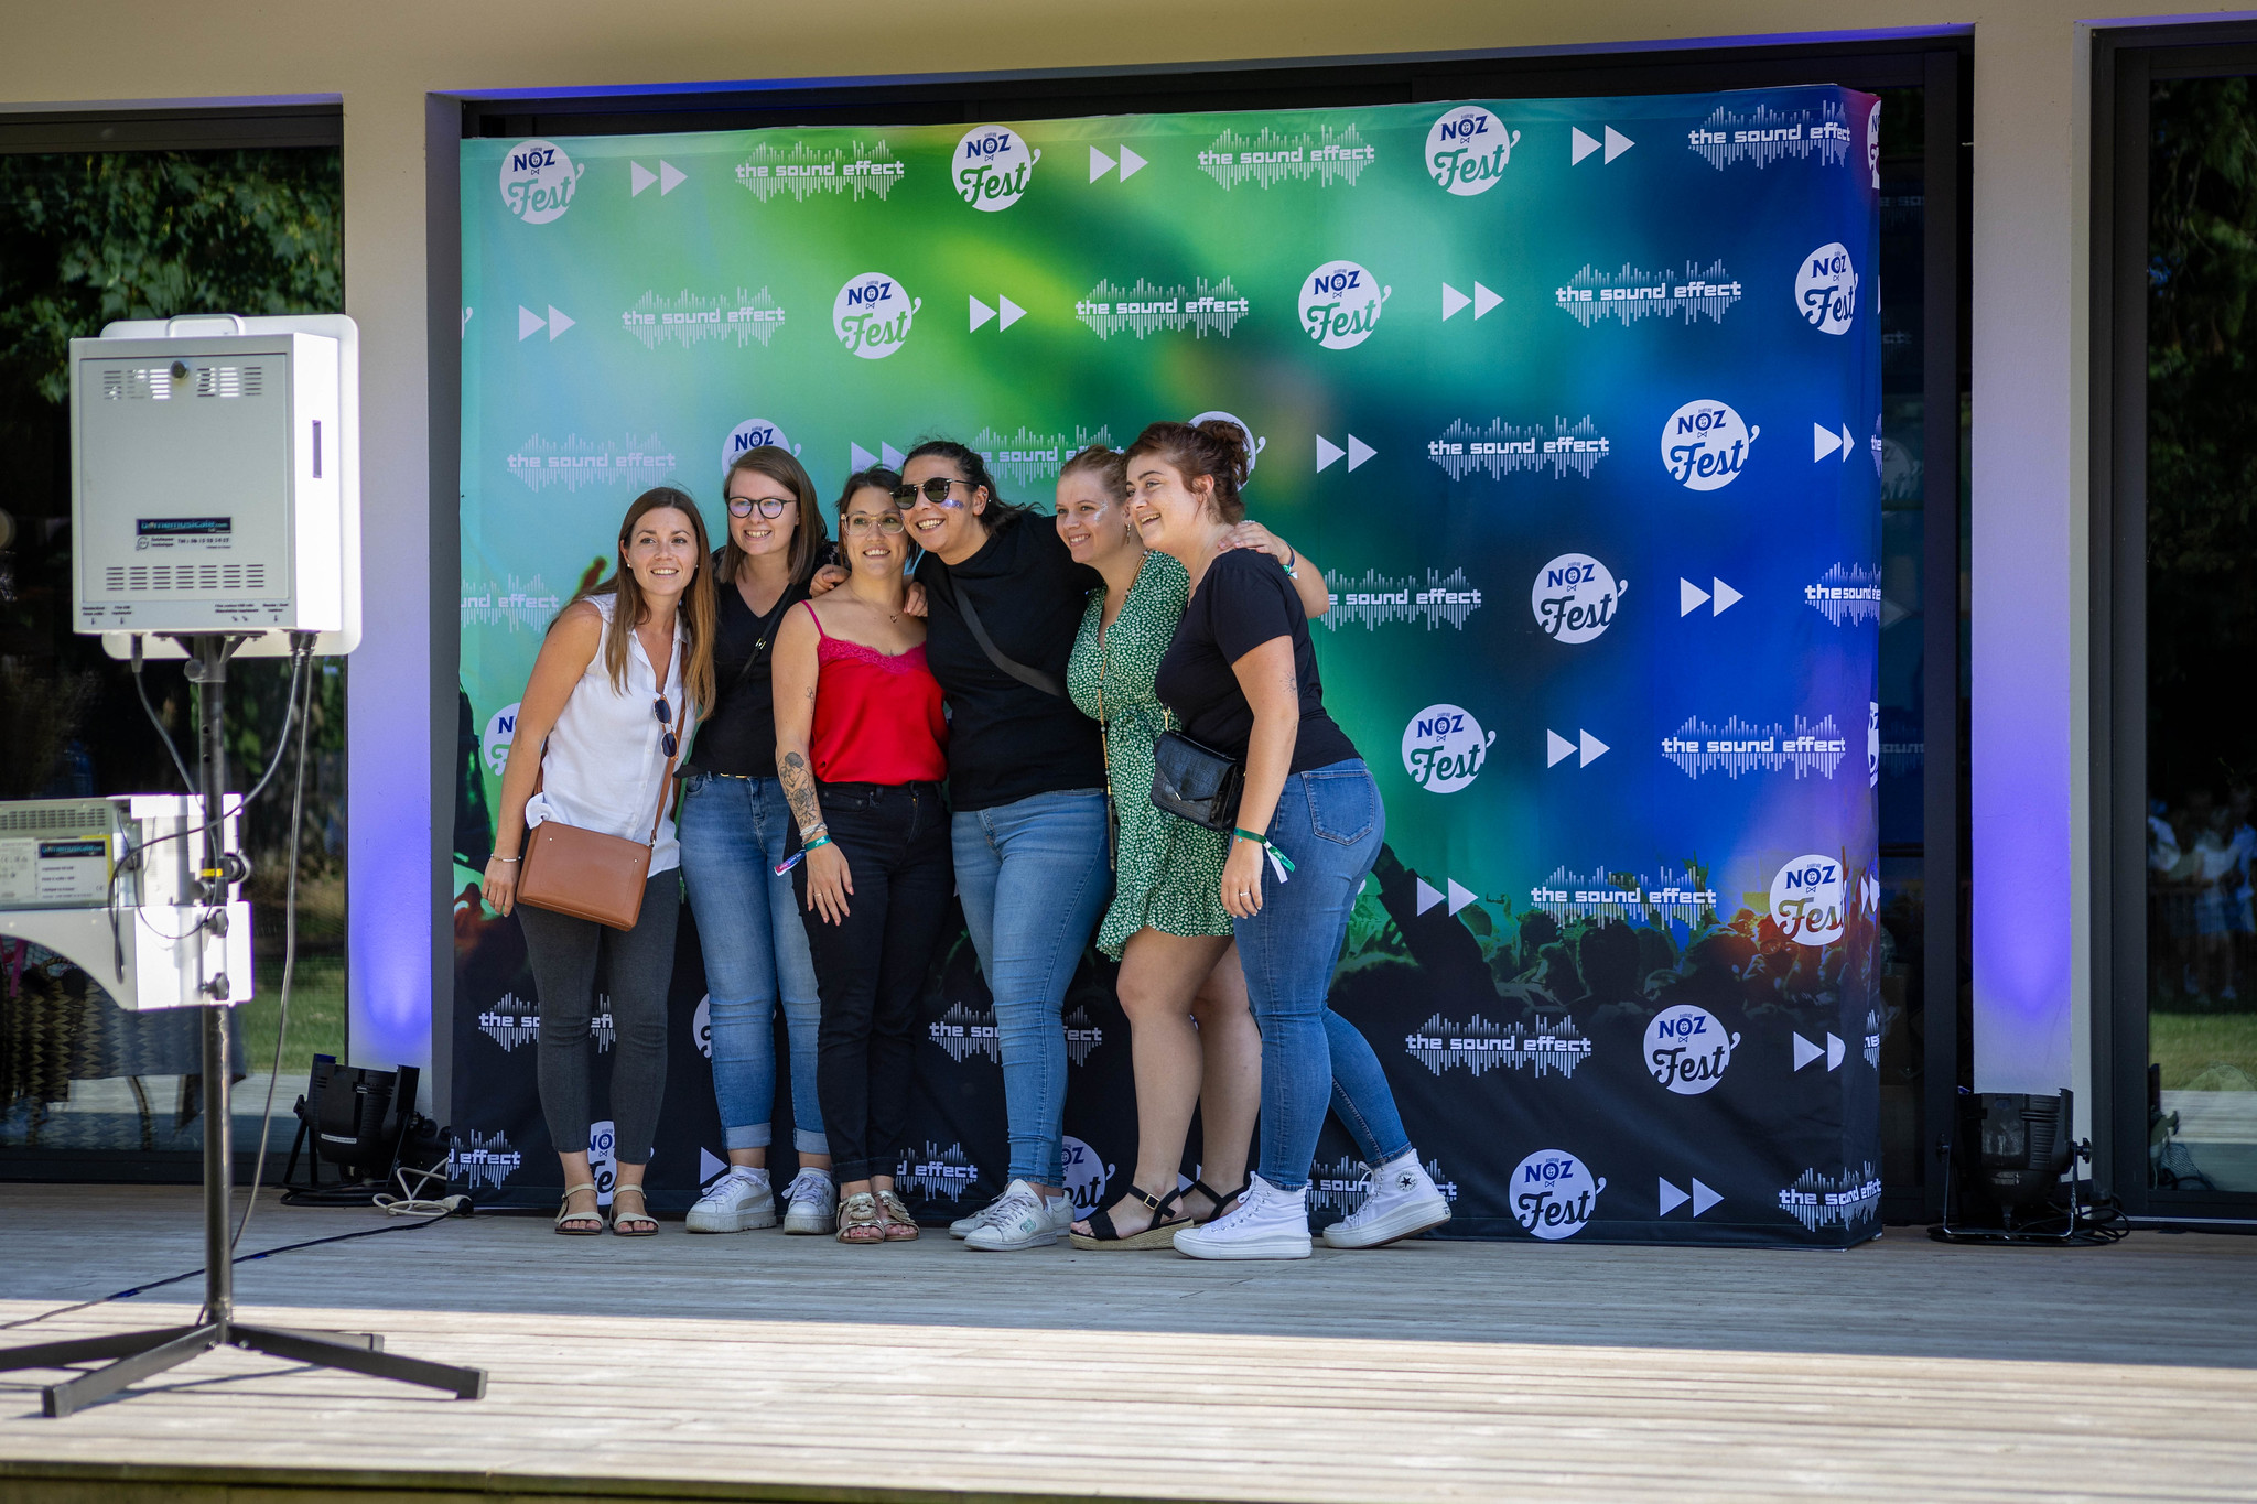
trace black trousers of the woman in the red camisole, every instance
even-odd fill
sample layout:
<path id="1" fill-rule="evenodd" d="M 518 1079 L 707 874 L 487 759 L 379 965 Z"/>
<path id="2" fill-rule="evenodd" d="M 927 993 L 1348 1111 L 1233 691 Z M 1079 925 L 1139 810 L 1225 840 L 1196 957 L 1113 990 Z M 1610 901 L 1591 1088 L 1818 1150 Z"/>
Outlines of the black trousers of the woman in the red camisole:
<path id="1" fill-rule="evenodd" d="M 808 911 L 808 866 L 792 868 L 815 956 L 815 1096 L 837 1179 L 894 1175 L 910 1121 L 916 999 L 948 918 L 955 870 L 937 782 L 822 782 L 831 841 L 846 857 L 846 922 Z M 792 830 L 799 848 L 799 830 Z"/>

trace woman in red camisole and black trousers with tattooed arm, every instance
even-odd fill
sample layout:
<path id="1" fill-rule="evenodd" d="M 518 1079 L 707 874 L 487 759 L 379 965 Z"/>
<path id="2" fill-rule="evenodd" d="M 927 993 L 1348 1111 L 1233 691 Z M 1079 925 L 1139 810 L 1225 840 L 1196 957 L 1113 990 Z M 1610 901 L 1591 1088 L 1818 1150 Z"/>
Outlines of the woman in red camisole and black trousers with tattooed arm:
<path id="1" fill-rule="evenodd" d="M 792 607 L 776 636 L 776 776 L 792 809 L 792 875 L 822 994 L 815 1089 L 840 1182 L 840 1242 L 916 1238 L 894 1193 L 910 1112 L 916 999 L 952 886 L 948 722 L 907 611 L 898 476 L 840 496 L 846 584 Z"/>

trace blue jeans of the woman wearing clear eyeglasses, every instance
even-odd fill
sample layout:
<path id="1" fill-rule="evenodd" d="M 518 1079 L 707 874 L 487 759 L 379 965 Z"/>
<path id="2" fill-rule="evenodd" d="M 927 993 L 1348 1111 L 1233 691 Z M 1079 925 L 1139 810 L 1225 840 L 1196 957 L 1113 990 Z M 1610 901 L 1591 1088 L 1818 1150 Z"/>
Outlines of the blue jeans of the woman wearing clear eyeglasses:
<path id="1" fill-rule="evenodd" d="M 828 1154 L 815 1100 L 822 1003 L 792 879 L 776 877 L 792 812 L 774 778 L 682 776 L 682 879 L 706 963 L 713 1098 L 722 1143 L 767 1148 L 776 1103 L 776 1001 L 792 1044 L 792 1148 Z"/>

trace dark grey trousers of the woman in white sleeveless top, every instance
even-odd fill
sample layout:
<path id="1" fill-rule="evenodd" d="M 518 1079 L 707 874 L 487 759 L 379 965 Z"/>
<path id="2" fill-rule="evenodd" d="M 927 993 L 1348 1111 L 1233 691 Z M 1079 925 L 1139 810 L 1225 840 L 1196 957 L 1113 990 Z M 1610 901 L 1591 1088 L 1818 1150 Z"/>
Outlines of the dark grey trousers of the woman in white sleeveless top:
<path id="1" fill-rule="evenodd" d="M 560 1154 L 587 1150 L 589 1069 L 596 1055 L 596 952 L 612 1001 L 612 1127 L 618 1164 L 650 1164 L 666 1096 L 666 985 L 675 974 L 682 873 L 655 873 L 634 929 L 605 929 L 546 909 L 517 909 L 542 994 L 539 1082 L 548 1141 Z"/>

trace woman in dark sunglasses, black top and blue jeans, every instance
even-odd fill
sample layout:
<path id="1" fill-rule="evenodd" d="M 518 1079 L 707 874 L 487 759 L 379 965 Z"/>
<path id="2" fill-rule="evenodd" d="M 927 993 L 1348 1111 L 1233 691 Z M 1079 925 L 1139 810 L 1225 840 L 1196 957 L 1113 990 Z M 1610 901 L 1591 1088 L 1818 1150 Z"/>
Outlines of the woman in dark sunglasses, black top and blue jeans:
<path id="1" fill-rule="evenodd" d="M 928 654 L 948 695 L 948 803 L 964 922 L 995 999 L 1009 1186 L 948 1231 L 982 1251 L 1056 1242 L 1063 1191 L 1061 1006 L 1113 888 L 1106 764 L 1065 695 L 1065 661 L 1097 570 L 1059 530 L 1004 503 L 977 451 L 910 451 L 896 498 L 925 550 Z"/>

